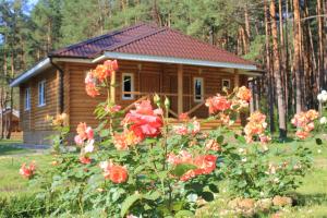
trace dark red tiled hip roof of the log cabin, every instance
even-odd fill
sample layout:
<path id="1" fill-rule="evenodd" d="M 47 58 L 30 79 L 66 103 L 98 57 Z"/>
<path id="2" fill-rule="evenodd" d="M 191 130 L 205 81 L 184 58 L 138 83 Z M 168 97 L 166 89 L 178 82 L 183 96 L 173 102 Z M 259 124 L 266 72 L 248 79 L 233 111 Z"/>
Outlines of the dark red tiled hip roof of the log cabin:
<path id="1" fill-rule="evenodd" d="M 87 39 L 50 53 L 50 57 L 96 58 L 105 51 L 251 64 L 234 53 L 168 27 L 137 24 Z"/>

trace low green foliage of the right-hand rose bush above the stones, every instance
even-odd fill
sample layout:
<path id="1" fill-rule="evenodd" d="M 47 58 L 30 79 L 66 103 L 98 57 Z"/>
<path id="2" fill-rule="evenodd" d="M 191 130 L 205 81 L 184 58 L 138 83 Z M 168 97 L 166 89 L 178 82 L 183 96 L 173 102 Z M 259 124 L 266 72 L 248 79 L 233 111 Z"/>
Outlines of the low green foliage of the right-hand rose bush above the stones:
<path id="1" fill-rule="evenodd" d="M 225 149 L 221 171 L 234 196 L 266 198 L 283 195 L 299 187 L 300 177 L 312 167 L 311 149 L 300 144 L 283 149 L 230 144 Z"/>

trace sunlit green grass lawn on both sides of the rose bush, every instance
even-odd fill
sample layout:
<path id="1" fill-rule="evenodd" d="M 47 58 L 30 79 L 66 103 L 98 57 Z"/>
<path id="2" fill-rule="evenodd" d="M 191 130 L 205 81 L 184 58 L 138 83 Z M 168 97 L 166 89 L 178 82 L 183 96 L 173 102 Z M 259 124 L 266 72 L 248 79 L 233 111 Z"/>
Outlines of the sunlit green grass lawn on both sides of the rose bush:
<path id="1" fill-rule="evenodd" d="M 323 140 L 323 145 L 316 145 L 315 140 L 304 142 L 311 147 L 314 156 L 314 168 L 303 178 L 303 185 L 292 195 L 298 197 L 298 206 L 287 207 L 280 210 L 279 217 L 327 217 L 327 136 Z M 17 142 L 0 142 L 0 196 L 28 195 L 35 189 L 28 187 L 28 181 L 19 174 L 19 169 L 23 162 L 35 160 L 41 168 L 51 166 L 49 154 L 37 154 L 27 149 L 13 148 L 11 145 Z M 286 144 L 275 144 L 287 148 L 296 142 Z M 221 187 L 221 190 L 223 190 Z M 201 217 L 222 217 L 223 191 L 218 198 L 207 205 L 206 213 Z"/>

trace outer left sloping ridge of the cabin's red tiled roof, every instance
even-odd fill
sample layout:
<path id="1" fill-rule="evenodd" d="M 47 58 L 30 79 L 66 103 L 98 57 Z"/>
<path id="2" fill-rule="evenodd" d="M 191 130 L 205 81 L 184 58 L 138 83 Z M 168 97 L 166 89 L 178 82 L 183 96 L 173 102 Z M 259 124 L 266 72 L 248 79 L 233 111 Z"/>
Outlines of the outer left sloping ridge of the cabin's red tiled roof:
<path id="1" fill-rule="evenodd" d="M 107 33 L 107 34 L 104 34 L 104 35 L 100 35 L 100 36 L 96 36 L 96 37 L 92 38 L 92 40 L 86 39 L 86 40 L 80 41 L 80 43 L 77 43 L 77 44 L 73 44 L 73 45 L 71 45 L 71 46 L 60 48 L 60 49 L 58 49 L 58 50 L 55 50 L 55 51 L 50 52 L 49 56 L 53 56 L 55 52 L 61 53 L 61 52 L 63 52 L 63 51 L 70 51 L 70 50 L 75 49 L 75 48 L 77 48 L 77 47 L 85 46 L 85 45 L 88 45 L 88 44 L 98 41 L 98 40 L 100 40 L 100 39 L 102 39 L 102 38 L 106 38 L 106 37 L 109 37 L 109 36 L 114 36 L 114 35 L 117 35 L 117 34 L 121 34 L 121 33 L 124 33 L 124 32 L 130 31 L 130 29 L 133 29 L 133 28 L 137 28 L 137 27 L 143 26 L 143 25 L 147 25 L 147 24 L 145 24 L 145 23 L 138 23 L 138 24 L 133 25 L 133 26 L 128 26 L 128 27 L 123 27 L 123 28 L 120 28 L 120 29 L 117 29 L 117 31 L 112 31 L 112 32 L 109 32 L 109 33 Z M 58 55 L 58 53 L 57 53 L 57 55 Z M 56 55 L 55 55 L 55 56 L 56 56 Z"/>

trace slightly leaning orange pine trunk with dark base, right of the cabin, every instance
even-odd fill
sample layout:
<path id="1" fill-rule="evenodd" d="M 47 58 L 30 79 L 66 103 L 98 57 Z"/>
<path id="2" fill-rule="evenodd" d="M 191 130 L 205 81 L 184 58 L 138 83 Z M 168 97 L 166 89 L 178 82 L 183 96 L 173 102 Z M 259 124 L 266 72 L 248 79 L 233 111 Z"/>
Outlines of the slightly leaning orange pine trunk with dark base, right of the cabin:
<path id="1" fill-rule="evenodd" d="M 270 17 L 271 17 L 271 34 L 272 34 L 272 52 L 274 52 L 274 71 L 275 71 L 275 83 L 276 83 L 276 94 L 277 94 L 277 106 L 279 114 L 279 137 L 284 140 L 287 136 L 286 131 L 286 108 L 283 100 L 281 71 L 280 71 L 280 58 L 278 50 L 278 31 L 276 22 L 276 8 L 275 0 L 270 1 Z"/>

